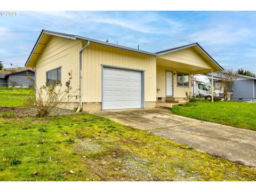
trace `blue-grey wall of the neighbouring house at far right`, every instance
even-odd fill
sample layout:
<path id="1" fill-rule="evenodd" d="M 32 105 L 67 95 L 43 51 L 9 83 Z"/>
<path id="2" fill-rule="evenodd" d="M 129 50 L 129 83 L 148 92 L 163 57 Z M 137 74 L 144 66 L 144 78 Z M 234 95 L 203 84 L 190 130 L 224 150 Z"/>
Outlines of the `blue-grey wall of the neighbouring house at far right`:
<path id="1" fill-rule="evenodd" d="M 233 85 L 233 99 L 252 99 L 254 79 L 237 80 Z M 254 90 L 255 91 L 255 90 Z"/>

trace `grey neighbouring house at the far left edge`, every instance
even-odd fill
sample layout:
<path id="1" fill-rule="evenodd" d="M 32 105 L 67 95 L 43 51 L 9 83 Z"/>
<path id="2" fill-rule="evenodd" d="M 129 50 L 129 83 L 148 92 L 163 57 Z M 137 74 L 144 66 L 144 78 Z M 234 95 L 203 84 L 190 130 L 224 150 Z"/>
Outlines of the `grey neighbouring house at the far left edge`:
<path id="1" fill-rule="evenodd" d="M 28 79 L 35 78 L 35 71 L 31 69 L 19 70 L 14 73 L 0 74 L 0 86 L 29 86 L 33 87 L 34 82 Z"/>

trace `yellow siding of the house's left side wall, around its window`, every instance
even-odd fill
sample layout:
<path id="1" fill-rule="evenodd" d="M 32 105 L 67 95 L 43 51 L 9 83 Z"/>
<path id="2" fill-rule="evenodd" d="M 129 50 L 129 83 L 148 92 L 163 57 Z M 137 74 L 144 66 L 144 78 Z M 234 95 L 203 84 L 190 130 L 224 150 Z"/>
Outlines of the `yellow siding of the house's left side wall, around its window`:
<path id="1" fill-rule="evenodd" d="M 62 90 L 66 89 L 65 82 L 70 80 L 71 92 L 73 92 L 70 94 L 78 95 L 78 52 L 81 47 L 80 41 L 52 36 L 35 63 L 37 87 L 45 85 L 46 71 L 62 67 Z M 72 69 L 71 79 L 68 77 L 70 69 Z M 70 98 L 69 101 L 77 102 L 78 98 Z"/>

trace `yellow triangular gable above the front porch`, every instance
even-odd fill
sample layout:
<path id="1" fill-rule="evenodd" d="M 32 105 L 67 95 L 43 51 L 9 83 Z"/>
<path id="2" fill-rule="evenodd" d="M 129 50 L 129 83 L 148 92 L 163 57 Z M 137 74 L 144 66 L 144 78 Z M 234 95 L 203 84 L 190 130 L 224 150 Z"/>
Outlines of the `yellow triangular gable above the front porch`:
<path id="1" fill-rule="evenodd" d="M 179 51 L 175 51 L 172 53 L 167 53 L 161 56 L 158 56 L 158 58 L 171 60 L 175 62 L 180 63 L 186 63 L 188 65 L 193 65 L 197 67 L 203 67 L 207 69 L 212 69 L 213 67 L 203 58 L 200 56 L 200 54 L 193 49 L 192 47 L 188 49 L 183 49 Z"/>

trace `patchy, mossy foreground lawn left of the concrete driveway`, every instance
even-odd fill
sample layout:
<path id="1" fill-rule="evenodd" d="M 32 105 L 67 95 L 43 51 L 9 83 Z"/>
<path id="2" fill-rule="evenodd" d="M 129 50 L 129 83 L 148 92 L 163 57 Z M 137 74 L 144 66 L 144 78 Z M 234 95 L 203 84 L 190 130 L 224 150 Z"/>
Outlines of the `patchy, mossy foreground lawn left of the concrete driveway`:
<path id="1" fill-rule="evenodd" d="M 90 114 L 0 117 L 0 158 L 1 181 L 256 180 L 249 167 Z"/>

